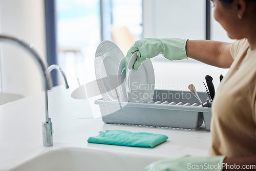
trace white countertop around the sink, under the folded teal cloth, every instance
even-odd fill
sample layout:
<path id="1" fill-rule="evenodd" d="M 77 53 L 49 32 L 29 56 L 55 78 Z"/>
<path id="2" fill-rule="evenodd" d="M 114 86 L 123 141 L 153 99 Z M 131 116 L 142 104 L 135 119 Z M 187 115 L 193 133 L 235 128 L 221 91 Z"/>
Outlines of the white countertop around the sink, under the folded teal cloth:
<path id="1" fill-rule="evenodd" d="M 44 93 L 0 106 L 0 170 L 58 147 L 102 149 L 112 152 L 147 154 L 162 157 L 184 155 L 208 156 L 210 133 L 201 129 L 162 129 L 146 126 L 104 124 L 94 119 L 88 100 L 76 100 L 64 86 L 48 93 L 49 117 L 53 122 L 53 146 L 42 146 L 41 122 L 45 121 Z M 95 112 L 95 111 L 94 111 Z M 127 147 L 87 143 L 100 131 L 126 130 L 164 134 L 169 138 L 154 148 Z"/>

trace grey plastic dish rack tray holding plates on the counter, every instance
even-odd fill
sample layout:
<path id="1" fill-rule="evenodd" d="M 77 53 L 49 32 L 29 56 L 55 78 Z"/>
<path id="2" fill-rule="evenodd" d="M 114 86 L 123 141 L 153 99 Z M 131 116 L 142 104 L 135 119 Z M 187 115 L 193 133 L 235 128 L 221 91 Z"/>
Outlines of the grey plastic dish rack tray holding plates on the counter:
<path id="1" fill-rule="evenodd" d="M 198 92 L 202 101 L 207 93 Z M 115 124 L 147 125 L 196 130 L 205 123 L 210 131 L 211 108 L 198 105 L 196 97 L 188 91 L 155 90 L 152 101 L 140 103 L 95 100 L 102 121 Z"/>

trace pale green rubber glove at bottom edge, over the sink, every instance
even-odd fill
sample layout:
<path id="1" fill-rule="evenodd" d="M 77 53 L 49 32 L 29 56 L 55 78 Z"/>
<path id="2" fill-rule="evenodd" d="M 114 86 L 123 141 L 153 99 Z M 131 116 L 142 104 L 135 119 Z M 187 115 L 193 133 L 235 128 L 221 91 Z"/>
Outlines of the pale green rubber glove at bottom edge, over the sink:
<path id="1" fill-rule="evenodd" d="M 156 161 L 144 171 L 221 171 L 225 156 L 170 158 Z"/>

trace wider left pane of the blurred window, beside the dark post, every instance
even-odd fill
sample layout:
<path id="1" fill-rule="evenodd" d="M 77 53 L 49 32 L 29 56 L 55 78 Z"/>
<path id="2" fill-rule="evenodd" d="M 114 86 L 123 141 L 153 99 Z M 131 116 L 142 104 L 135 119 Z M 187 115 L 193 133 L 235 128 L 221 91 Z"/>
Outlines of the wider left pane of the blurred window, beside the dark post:
<path id="1" fill-rule="evenodd" d="M 99 5 L 97 0 L 56 1 L 59 65 L 69 68 L 94 54 L 101 41 Z"/>

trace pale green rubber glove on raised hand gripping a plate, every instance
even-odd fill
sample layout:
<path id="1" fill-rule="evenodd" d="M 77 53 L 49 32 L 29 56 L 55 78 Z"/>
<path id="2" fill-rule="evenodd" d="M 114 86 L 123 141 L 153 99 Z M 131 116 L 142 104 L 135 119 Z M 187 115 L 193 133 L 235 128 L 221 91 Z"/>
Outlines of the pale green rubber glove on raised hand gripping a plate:
<path id="1" fill-rule="evenodd" d="M 141 62 L 146 58 L 152 58 L 162 54 L 169 60 L 181 60 L 187 58 L 186 54 L 187 39 L 181 38 L 142 38 L 135 41 L 126 55 L 126 67 L 134 52 L 139 51 L 137 60 L 133 68 L 138 70 Z"/>

